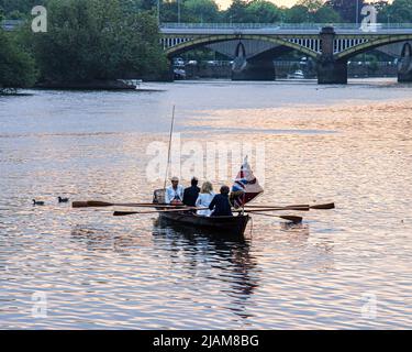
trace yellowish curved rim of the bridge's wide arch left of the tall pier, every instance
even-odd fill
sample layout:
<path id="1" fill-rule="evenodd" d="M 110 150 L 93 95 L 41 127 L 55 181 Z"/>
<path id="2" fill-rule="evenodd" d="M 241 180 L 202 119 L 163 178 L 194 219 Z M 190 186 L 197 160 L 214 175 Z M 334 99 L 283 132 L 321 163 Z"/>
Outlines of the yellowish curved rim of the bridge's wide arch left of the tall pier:
<path id="1" fill-rule="evenodd" d="M 268 36 L 268 35 L 258 35 L 258 34 L 224 34 L 224 35 L 210 35 L 210 36 L 202 36 L 197 37 L 180 44 L 177 44 L 175 46 L 168 47 L 166 50 L 167 57 L 171 58 L 174 56 L 177 56 L 183 52 L 193 50 L 199 46 L 203 46 L 207 44 L 213 44 L 219 42 L 227 42 L 227 41 L 242 41 L 242 40 L 255 40 L 255 41 L 263 41 L 272 43 L 276 45 L 281 45 L 289 47 L 291 50 L 296 50 L 298 52 L 301 52 L 310 57 L 318 58 L 320 56 L 320 53 L 312 51 L 310 48 L 307 48 L 304 46 L 301 46 L 299 44 L 289 42 L 285 38 L 277 37 L 277 36 Z"/>

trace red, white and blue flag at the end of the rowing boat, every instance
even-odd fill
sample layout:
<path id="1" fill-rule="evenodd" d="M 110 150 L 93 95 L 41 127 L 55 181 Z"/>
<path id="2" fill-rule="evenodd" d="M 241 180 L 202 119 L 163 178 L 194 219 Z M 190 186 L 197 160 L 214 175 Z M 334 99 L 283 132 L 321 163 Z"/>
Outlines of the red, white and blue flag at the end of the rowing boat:
<path id="1" fill-rule="evenodd" d="M 231 201 L 237 209 L 255 199 L 263 191 L 264 189 L 253 174 L 246 156 L 232 187 Z"/>

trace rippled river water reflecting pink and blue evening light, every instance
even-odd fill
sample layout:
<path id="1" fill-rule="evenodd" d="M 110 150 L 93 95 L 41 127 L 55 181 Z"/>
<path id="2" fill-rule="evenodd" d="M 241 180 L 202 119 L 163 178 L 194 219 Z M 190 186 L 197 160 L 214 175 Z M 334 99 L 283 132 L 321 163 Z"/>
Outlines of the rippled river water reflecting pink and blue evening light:
<path id="1" fill-rule="evenodd" d="M 1 329 L 411 328 L 412 86 L 144 87 L 0 97 Z M 254 216 L 233 241 L 57 204 L 151 201 L 163 182 L 148 150 L 167 141 L 172 105 L 181 144 L 256 147 L 257 204 L 336 209 L 296 227 Z M 209 170 L 197 173 L 215 187 L 232 180 Z"/>

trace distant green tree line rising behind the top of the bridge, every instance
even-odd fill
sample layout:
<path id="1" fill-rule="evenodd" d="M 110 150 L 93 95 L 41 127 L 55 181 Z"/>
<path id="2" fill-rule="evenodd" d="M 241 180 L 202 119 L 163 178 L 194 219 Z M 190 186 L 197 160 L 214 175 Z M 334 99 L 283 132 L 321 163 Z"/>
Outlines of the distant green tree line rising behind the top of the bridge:
<path id="1" fill-rule="evenodd" d="M 87 0 L 85 0 L 87 1 Z M 0 0 L 0 15 L 8 19 L 24 18 L 46 0 Z M 379 13 L 379 22 L 412 22 L 412 1 L 393 0 L 299 0 L 291 8 L 278 7 L 267 0 L 233 0 L 221 10 L 215 0 L 119 0 L 129 12 L 152 11 L 160 8 L 162 22 L 190 23 L 355 23 L 357 11 L 368 3 Z M 180 15 L 179 15 L 180 14 Z M 359 13 L 358 13 L 359 14 Z"/>

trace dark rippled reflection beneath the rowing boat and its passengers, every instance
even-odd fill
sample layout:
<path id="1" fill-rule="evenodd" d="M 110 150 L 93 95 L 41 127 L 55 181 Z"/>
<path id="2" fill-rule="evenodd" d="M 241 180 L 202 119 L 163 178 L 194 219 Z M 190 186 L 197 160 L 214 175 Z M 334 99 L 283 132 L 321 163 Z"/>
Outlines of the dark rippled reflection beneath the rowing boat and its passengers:
<path id="1" fill-rule="evenodd" d="M 257 260 L 250 254 L 250 239 L 222 237 L 158 218 L 154 221 L 153 241 L 155 248 L 168 249 L 172 264 L 186 263 L 192 278 L 208 275 L 208 279 L 218 280 L 215 286 L 231 300 L 226 308 L 243 319 L 250 317 L 246 312 L 247 300 L 258 287 L 259 276 Z M 230 287 L 222 289 L 227 284 Z"/>

